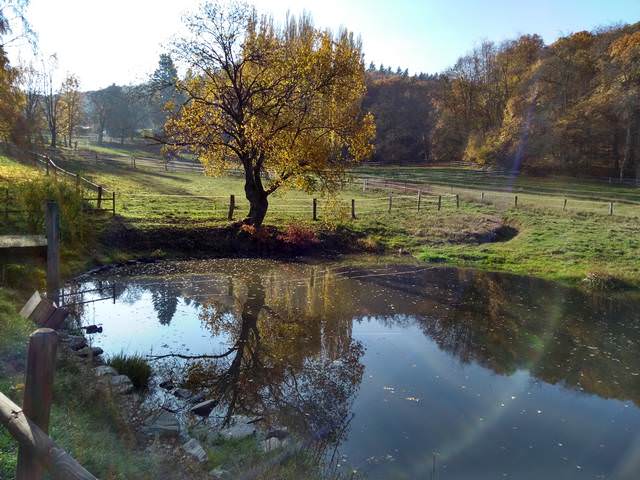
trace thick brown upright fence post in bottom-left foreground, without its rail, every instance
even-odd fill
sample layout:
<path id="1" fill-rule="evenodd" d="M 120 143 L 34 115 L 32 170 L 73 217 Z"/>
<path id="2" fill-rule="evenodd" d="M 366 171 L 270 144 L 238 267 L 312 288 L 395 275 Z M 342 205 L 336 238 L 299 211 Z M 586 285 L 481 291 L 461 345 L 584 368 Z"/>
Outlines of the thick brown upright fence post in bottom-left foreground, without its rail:
<path id="1" fill-rule="evenodd" d="M 44 433 L 49 432 L 57 349 L 58 334 L 55 330 L 39 328 L 29 337 L 22 410 Z M 32 452 L 20 447 L 16 480 L 39 480 L 43 471 L 42 464 Z"/>

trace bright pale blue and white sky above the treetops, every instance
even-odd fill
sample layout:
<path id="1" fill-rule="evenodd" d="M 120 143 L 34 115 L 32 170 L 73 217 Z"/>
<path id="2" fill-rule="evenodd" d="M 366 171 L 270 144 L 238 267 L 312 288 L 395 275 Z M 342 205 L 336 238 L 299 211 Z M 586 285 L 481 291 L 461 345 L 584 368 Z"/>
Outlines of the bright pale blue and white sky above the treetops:
<path id="1" fill-rule="evenodd" d="M 144 81 L 200 0 L 31 0 L 28 18 L 39 51 L 57 54 L 60 75 L 75 73 L 84 90 Z M 436 73 L 483 40 L 538 33 L 545 42 L 580 30 L 640 21 L 640 0 L 255 0 L 259 12 L 284 19 L 311 13 L 319 27 L 360 35 L 367 64 Z M 12 62 L 27 45 L 9 48 Z"/>

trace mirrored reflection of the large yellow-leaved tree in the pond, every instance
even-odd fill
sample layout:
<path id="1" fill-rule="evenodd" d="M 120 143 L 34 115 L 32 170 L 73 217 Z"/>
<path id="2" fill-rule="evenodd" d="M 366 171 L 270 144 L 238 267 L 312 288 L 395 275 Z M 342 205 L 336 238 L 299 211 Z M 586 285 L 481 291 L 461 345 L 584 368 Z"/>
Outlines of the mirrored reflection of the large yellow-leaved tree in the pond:
<path id="1" fill-rule="evenodd" d="M 316 444 L 337 441 L 362 378 L 363 348 L 351 338 L 350 319 L 341 320 L 345 331 L 336 319 L 304 314 L 308 286 L 265 277 L 230 279 L 224 300 L 203 302 L 208 328 L 233 340 L 219 358 L 193 363 L 189 382 L 207 390 L 224 421 L 242 413 L 287 425 Z"/>

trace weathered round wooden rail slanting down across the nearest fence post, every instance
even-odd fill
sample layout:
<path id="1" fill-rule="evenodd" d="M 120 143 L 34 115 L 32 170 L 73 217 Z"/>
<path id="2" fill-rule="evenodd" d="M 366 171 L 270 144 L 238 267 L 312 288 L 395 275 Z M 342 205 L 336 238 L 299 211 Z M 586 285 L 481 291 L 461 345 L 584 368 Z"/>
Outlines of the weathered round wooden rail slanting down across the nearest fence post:
<path id="1" fill-rule="evenodd" d="M 97 480 L 2 393 L 0 393 L 0 423 L 6 427 L 20 446 L 29 450 L 44 464 L 54 478 Z"/>

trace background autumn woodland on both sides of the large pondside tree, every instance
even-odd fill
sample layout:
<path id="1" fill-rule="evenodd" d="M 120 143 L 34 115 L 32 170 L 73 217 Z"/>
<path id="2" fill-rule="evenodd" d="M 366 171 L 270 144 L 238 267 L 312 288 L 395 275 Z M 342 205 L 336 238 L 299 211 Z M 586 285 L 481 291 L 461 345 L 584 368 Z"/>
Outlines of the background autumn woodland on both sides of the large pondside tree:
<path id="1" fill-rule="evenodd" d="M 186 98 L 169 54 L 138 85 L 83 92 L 73 74 L 55 83 L 55 71 L 55 57 L 10 65 L 0 46 L 4 141 L 73 146 L 89 132 L 99 143 L 158 135 Z M 486 41 L 437 75 L 370 64 L 366 87 L 375 162 L 640 176 L 640 23 L 550 45 L 537 35 Z"/>

